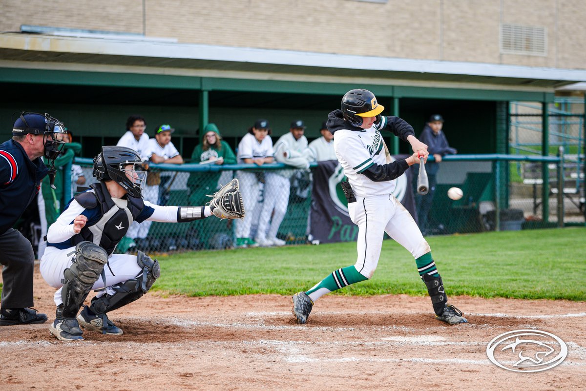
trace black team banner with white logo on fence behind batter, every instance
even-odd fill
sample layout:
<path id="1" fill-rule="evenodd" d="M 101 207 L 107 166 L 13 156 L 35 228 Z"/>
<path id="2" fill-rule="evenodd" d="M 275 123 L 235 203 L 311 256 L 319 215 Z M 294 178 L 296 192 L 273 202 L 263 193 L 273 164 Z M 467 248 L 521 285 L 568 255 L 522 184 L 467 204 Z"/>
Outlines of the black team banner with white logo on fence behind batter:
<path id="1" fill-rule="evenodd" d="M 392 156 L 392 161 L 406 159 L 409 155 Z M 320 243 L 355 241 L 358 226 L 350 220 L 346 197 L 340 186 L 345 180 L 344 171 L 338 160 L 318 162 L 314 170 L 314 186 L 311 204 L 311 235 Z M 408 169 L 397 178 L 393 195 L 411 213 L 417 222 L 415 197 L 413 194 L 413 173 Z"/>

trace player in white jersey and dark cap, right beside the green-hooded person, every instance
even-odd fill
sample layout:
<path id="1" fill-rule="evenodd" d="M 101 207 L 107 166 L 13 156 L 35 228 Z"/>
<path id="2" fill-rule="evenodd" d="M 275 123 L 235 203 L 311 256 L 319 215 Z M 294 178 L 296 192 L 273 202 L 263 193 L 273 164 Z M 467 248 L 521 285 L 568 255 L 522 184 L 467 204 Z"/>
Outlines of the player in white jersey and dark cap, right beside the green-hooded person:
<path id="1" fill-rule="evenodd" d="M 248 129 L 248 133 L 240 140 L 238 145 L 238 163 L 256 164 L 262 166 L 264 163 L 272 163 L 272 140 L 271 128 L 266 119 L 257 119 L 254 125 Z M 263 172 L 250 170 L 239 170 L 236 173 L 240 180 L 240 190 L 244 201 L 246 217 L 237 221 L 236 224 L 236 246 L 258 246 L 250 238 L 250 227 L 254 219 L 258 218 L 258 191 L 259 177 Z M 266 200 L 266 197 L 265 197 Z"/>

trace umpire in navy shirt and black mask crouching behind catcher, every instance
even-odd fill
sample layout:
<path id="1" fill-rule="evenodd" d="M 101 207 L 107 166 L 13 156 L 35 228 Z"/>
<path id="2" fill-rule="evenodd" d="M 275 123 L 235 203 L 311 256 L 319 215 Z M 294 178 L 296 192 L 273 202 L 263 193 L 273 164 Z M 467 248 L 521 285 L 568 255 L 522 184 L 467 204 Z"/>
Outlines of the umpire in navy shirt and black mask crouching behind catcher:
<path id="1" fill-rule="evenodd" d="M 4 266 L 0 326 L 47 321 L 47 315 L 28 308 L 33 306 L 35 253 L 12 226 L 35 200 L 47 174 L 53 184 L 54 159 L 64 145 L 57 133 L 63 132 L 63 124 L 49 114 L 22 112 L 14 123 L 12 139 L 0 144 L 0 264 Z"/>

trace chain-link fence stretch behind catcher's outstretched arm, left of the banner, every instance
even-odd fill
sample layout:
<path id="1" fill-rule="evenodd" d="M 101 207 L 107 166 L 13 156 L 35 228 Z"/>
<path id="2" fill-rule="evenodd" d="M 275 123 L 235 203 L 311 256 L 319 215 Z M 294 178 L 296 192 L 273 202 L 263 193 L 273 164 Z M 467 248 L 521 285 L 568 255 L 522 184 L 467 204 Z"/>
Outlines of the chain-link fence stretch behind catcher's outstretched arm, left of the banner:
<path id="1" fill-rule="evenodd" d="M 84 186 L 90 186 L 96 181 L 92 177 L 92 167 L 87 163 L 80 165 L 87 179 Z M 117 252 L 132 252 L 133 248 L 145 252 L 167 252 L 306 243 L 311 207 L 310 170 L 236 170 L 229 166 L 217 166 L 213 167 L 213 171 L 205 171 L 199 165 L 185 164 L 180 166 L 182 171 L 172 171 L 161 168 L 171 166 L 169 164 L 155 166 L 151 165 L 149 176 L 159 177 L 160 180 L 147 180 L 147 183 L 157 184 L 145 187 L 145 200 L 158 205 L 205 205 L 211 199 L 209 195 L 236 177 L 243 193 L 246 218 L 222 220 L 210 217 L 179 224 L 143 222 L 141 225 L 150 226 L 147 231 L 142 229 L 142 234 L 138 229 L 138 236 L 125 238 L 118 245 Z M 264 238 L 264 241 L 257 242 L 255 239 L 258 238 Z M 275 238 L 278 240 L 274 241 Z"/>

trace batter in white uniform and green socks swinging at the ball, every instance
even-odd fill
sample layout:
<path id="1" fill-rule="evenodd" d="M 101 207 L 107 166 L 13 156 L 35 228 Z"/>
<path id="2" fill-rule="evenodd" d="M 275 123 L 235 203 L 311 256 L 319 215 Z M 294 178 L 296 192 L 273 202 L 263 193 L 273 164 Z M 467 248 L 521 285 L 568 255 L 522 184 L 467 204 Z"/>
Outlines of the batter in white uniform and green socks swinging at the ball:
<path id="1" fill-rule="evenodd" d="M 420 156 L 427 162 L 427 145 L 415 138 L 413 128 L 403 119 L 381 116 L 383 109 L 372 92 L 360 89 L 346 92 L 341 109 L 328 115 L 327 125 L 334 135 L 336 157 L 348 178 L 342 187 L 348 200 L 350 219 L 359 227 L 358 257 L 355 265 L 335 270 L 308 291 L 294 294 L 293 314 L 299 324 L 306 323 L 315 300 L 324 294 L 373 276 L 384 232 L 415 258 L 419 275 L 431 297 L 435 317 L 449 324 L 467 323 L 461 311 L 448 304 L 430 245 L 411 214 L 392 194 L 395 179 L 409 166 L 419 163 Z M 381 130 L 391 131 L 410 143 L 413 155 L 405 160 L 388 162 Z"/>

